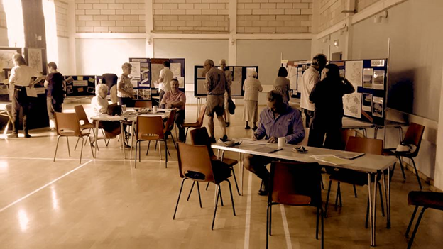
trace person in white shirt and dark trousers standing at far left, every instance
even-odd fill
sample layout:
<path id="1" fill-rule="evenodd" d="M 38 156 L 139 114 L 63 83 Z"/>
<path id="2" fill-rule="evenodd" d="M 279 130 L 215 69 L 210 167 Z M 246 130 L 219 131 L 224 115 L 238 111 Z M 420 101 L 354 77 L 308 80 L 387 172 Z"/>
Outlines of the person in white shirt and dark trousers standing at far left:
<path id="1" fill-rule="evenodd" d="M 8 138 L 18 138 L 18 126 L 20 124 L 20 109 L 23 108 L 23 133 L 25 138 L 31 138 L 28 133 L 27 117 L 29 108 L 28 89 L 33 87 L 35 83 L 45 79 L 40 72 L 28 67 L 26 60 L 21 54 L 14 54 L 12 56 L 15 67 L 11 70 L 11 76 L 9 77 L 9 84 L 13 91 L 12 101 L 12 124 L 13 132 L 8 135 Z M 31 78 L 35 77 L 33 81 Z"/>

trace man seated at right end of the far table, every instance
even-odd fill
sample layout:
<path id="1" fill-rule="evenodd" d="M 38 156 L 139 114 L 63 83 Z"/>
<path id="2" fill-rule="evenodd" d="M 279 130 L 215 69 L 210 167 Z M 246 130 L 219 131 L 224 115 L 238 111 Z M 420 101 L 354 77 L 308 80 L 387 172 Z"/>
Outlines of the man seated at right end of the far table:
<path id="1" fill-rule="evenodd" d="M 185 142 L 185 128 L 182 127 L 185 121 L 185 104 L 186 95 L 178 89 L 179 82 L 177 79 L 170 81 L 171 90 L 163 95 L 161 106 L 165 108 L 177 108 L 179 111 L 175 114 L 175 123 L 177 124 L 180 142 Z"/>

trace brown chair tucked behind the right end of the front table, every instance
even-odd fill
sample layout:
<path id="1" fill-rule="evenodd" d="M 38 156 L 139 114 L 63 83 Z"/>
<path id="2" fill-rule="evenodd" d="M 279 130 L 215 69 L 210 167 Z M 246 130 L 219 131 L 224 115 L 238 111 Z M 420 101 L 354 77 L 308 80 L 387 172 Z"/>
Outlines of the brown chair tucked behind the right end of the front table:
<path id="1" fill-rule="evenodd" d="M 383 140 L 373 139 L 373 138 L 359 138 L 359 137 L 349 137 L 348 142 L 346 143 L 346 151 L 356 152 L 356 153 L 366 153 L 366 154 L 374 154 L 374 155 L 382 155 L 383 153 Z M 379 182 L 380 177 L 377 178 L 376 184 L 378 184 L 378 190 L 380 192 L 380 196 L 383 197 L 381 192 L 381 184 Z M 373 180 L 373 179 L 372 179 Z M 335 206 L 337 207 L 337 200 L 340 201 L 341 204 L 341 187 L 340 183 L 348 183 L 354 185 L 354 192 L 356 191 L 355 186 L 364 186 L 368 184 L 368 174 L 365 172 L 359 172 L 355 170 L 346 170 L 340 169 L 336 172 L 332 172 L 329 176 L 329 187 L 327 192 L 326 204 L 324 206 L 324 215 L 327 216 L 327 207 L 329 203 L 329 194 L 331 192 L 332 181 L 337 182 L 337 196 L 335 198 Z M 369 202 L 368 202 L 369 205 Z M 368 206 L 369 208 L 369 206 Z M 368 209 L 366 211 L 366 227 L 368 226 Z M 381 211 L 383 216 L 384 207 L 383 207 L 383 198 L 381 198 Z"/>

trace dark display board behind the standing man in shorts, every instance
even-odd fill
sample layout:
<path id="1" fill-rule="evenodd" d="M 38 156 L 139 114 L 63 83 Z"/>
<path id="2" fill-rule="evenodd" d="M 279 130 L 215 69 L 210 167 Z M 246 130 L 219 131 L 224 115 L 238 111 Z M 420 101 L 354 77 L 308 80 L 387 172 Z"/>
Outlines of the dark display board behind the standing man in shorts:
<path id="1" fill-rule="evenodd" d="M 250 70 L 257 72 L 258 66 L 227 66 L 232 76 L 231 96 L 243 96 L 243 84 Z M 207 89 L 204 87 L 206 78 L 203 66 L 194 67 L 194 96 L 206 96 Z"/>

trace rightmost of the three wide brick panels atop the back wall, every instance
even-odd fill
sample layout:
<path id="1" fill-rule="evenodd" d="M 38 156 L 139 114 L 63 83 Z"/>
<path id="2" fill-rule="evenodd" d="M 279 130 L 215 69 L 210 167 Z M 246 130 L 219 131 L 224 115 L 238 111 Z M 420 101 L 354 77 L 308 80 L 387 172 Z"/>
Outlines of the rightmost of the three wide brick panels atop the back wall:
<path id="1" fill-rule="evenodd" d="M 237 33 L 310 33 L 312 1 L 238 0 Z"/>

